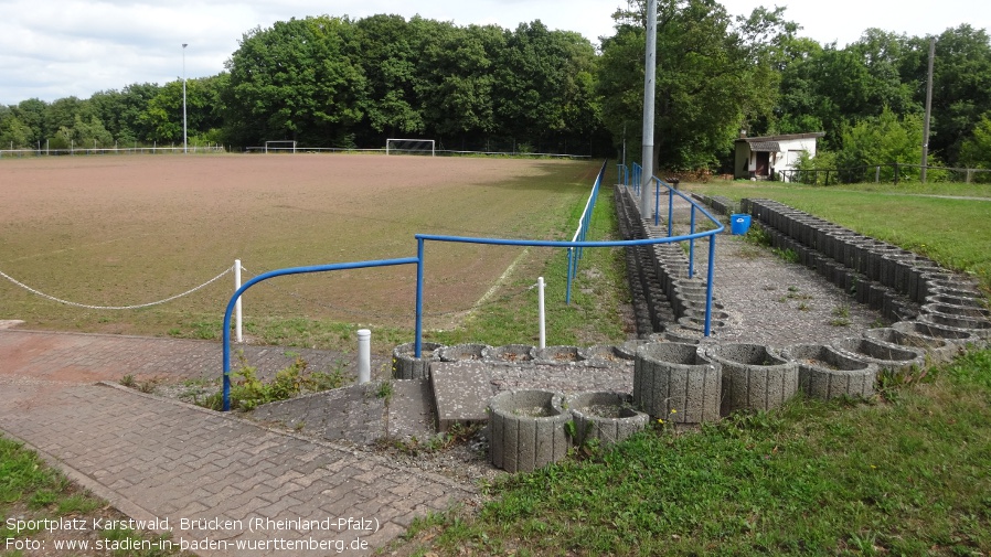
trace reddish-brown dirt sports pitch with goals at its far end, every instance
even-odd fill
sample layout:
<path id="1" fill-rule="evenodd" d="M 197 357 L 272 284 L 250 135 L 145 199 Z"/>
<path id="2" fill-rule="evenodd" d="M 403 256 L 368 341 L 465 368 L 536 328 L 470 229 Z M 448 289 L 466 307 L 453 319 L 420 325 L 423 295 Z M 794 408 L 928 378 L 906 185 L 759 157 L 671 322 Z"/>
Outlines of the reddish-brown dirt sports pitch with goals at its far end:
<path id="1" fill-rule="evenodd" d="M 60 299 L 130 306 L 201 285 L 235 259 L 247 280 L 277 268 L 413 257 L 417 233 L 562 236 L 597 170 L 590 162 L 369 154 L 6 159 L 0 271 Z M 425 311 L 469 309 L 520 253 L 428 243 Z M 415 275 L 403 266 L 279 278 L 245 294 L 245 314 L 412 326 Z M 220 319 L 232 292 L 228 276 L 128 317 L 62 306 L 0 277 L 0 319 L 147 333 L 129 323 Z"/>

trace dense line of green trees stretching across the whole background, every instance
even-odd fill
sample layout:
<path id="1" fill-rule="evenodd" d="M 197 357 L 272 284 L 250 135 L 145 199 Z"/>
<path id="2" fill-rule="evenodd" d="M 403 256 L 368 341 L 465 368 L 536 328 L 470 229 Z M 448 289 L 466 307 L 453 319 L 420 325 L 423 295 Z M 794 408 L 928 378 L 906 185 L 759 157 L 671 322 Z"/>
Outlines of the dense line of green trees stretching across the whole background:
<path id="1" fill-rule="evenodd" d="M 819 165 L 918 162 L 931 38 L 869 29 L 839 47 L 802 38 L 784 8 L 659 4 L 657 168 L 725 168 L 740 129 L 825 131 Z M 404 136 L 595 156 L 626 143 L 636 160 L 646 2 L 614 18 L 599 50 L 540 21 L 507 30 L 322 15 L 257 28 L 224 72 L 188 82 L 190 140 L 381 147 Z M 936 39 L 931 160 L 991 167 L 991 40 L 966 24 Z M 181 114 L 180 81 L 28 99 L 0 106 L 0 146 L 180 143 Z"/>

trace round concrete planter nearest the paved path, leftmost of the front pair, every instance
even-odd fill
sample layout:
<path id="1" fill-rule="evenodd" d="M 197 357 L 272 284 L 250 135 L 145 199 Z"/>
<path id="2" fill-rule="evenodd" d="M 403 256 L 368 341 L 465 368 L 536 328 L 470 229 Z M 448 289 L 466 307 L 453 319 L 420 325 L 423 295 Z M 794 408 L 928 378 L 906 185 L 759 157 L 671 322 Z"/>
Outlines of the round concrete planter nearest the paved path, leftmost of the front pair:
<path id="1" fill-rule="evenodd" d="M 489 401 L 489 461 L 507 472 L 530 472 L 567 456 L 564 395 L 505 390 Z"/>

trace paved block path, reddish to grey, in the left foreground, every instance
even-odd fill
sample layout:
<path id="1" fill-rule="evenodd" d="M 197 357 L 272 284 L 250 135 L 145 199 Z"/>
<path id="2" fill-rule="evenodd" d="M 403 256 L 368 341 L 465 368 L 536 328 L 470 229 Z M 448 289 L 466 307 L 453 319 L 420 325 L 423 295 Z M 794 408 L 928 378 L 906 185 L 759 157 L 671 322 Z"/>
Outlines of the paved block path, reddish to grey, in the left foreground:
<path id="1" fill-rule="evenodd" d="M 215 343 L 0 331 L 0 430 L 130 517 L 168 518 L 173 542 L 204 556 L 339 555 L 340 543 L 340 555 L 366 554 L 415 516 L 471 494 L 436 474 L 111 383 L 139 371 L 216 369 Z"/>

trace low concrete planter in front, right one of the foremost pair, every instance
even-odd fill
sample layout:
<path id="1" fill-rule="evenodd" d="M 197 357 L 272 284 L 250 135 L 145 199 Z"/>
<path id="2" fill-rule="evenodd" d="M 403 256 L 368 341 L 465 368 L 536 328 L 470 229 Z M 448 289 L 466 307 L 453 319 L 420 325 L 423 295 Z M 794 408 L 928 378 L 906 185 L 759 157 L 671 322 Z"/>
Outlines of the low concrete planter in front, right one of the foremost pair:
<path id="1" fill-rule="evenodd" d="M 629 395 L 621 393 L 579 393 L 565 399 L 575 424 L 575 444 L 597 439 L 609 446 L 642 431 L 650 416 L 630 406 Z"/>

